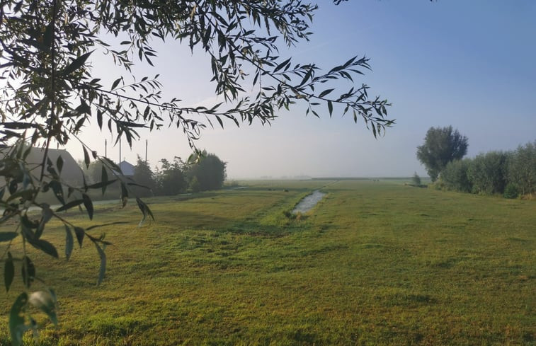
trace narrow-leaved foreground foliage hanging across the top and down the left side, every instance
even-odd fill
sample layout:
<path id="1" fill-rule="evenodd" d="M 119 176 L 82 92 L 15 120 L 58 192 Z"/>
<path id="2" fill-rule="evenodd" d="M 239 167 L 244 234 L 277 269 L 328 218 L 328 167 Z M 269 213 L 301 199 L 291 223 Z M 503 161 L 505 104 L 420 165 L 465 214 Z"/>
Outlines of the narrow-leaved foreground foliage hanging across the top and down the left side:
<path id="1" fill-rule="evenodd" d="M 312 62 L 279 56 L 281 45 L 308 40 L 316 10 L 316 5 L 296 0 L 1 0 L 0 144 L 8 149 L 0 158 L 4 182 L 0 223 L 15 220 L 18 224 L 16 231 L 2 238 L 20 236 L 23 244 L 57 258 L 55 246 L 42 236 L 47 222 L 58 219 L 66 230 L 66 257 L 74 248 L 74 237 L 79 246 L 88 239 L 101 259 L 98 282 L 102 281 L 107 242 L 93 233 L 95 226 L 82 229 L 60 212 L 83 207 L 92 219 L 89 190 L 104 193 L 109 185 L 118 184 L 125 205 L 128 197 L 135 195 L 134 183 L 86 143 L 80 143 L 86 168 L 91 161 L 102 163 L 98 182 L 69 185 L 60 178 L 62 158 L 52 162 L 47 154 L 51 144 L 63 146 L 78 140 L 89 122 L 110 132 L 116 143 L 125 138 L 130 145 L 139 138 L 140 128 L 174 125 L 195 149 L 195 139 L 207 125 L 223 127 L 224 120 L 236 125 L 254 120 L 266 124 L 275 119 L 278 110 L 304 103 L 307 114 L 331 117 L 349 113 L 354 122 L 362 120 L 374 136 L 383 134 L 394 123 L 387 117 L 389 103 L 370 97 L 369 87 L 358 83 L 358 77 L 370 69 L 366 57 L 351 57 L 336 67 L 321 69 Z M 154 39 L 183 43 L 192 52 L 207 54 L 215 93 L 224 102 L 190 107 L 180 96 L 163 100 L 158 75 L 135 76 L 135 64 L 154 64 Z M 120 74 L 111 85 L 105 85 L 91 68 L 95 54 L 106 54 L 118 67 Z M 341 80 L 350 85 L 341 87 Z M 38 165 L 26 160 L 33 146 L 43 150 Z M 60 207 L 52 209 L 50 204 L 36 202 L 38 195 L 47 191 L 54 193 Z M 134 197 L 143 218 L 152 217 L 147 204 Z M 29 207 L 40 208 L 40 217 L 28 216 Z M 35 328 L 23 311 L 38 301 L 31 299 L 33 293 L 28 291 L 37 269 L 25 246 L 16 253 L 11 239 L 6 245 L 7 272 L 11 272 L 13 260 L 25 264 L 21 279 L 26 291 L 16 299 L 10 316 L 13 344 L 19 345 L 23 331 Z M 9 278 L 7 289 L 13 277 Z M 55 321 L 53 304 L 49 304 L 55 295 L 50 296 L 47 304 L 38 307 Z"/>

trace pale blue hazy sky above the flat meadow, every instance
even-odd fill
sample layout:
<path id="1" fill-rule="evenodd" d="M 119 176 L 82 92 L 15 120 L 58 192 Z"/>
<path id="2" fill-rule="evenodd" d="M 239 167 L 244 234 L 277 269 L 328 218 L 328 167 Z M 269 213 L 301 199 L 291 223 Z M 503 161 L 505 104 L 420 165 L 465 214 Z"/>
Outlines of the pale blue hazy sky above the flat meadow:
<path id="1" fill-rule="evenodd" d="M 319 6 L 312 40 L 282 55 L 331 68 L 366 54 L 372 71 L 358 83 L 393 103 L 389 116 L 397 124 L 375 139 L 351 117 L 305 117 L 304 108 L 296 107 L 278 113 L 271 127 L 237 129 L 228 122 L 225 129 L 208 128 L 198 146 L 228 162 L 229 178 L 425 175 L 415 152 L 432 126 L 452 125 L 469 137 L 469 156 L 536 139 L 536 1 L 350 0 Z M 203 54 L 192 57 L 178 42 L 157 47 L 156 68 L 139 68 L 139 76 L 161 74 L 164 95 L 186 105 L 213 96 Z M 115 70 L 101 59 L 95 66 L 96 75 L 113 79 Z M 84 134 L 99 154 L 105 138 L 110 142 L 109 134 L 94 129 Z M 145 139 L 152 166 L 190 153 L 186 138 L 172 127 L 142 132 L 132 150 L 122 146 L 122 156 L 133 163 L 136 154 L 144 156 Z M 82 156 L 76 143 L 68 149 Z M 108 145 L 108 156 L 118 155 Z"/>

